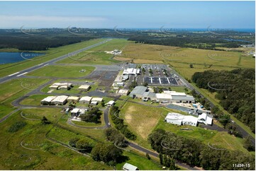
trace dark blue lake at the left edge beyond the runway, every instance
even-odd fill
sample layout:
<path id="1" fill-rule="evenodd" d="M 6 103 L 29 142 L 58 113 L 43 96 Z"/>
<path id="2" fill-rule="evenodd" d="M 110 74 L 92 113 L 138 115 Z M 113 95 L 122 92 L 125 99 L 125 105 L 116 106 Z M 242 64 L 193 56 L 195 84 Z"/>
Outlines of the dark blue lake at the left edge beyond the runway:
<path id="1" fill-rule="evenodd" d="M 10 64 L 24 60 L 40 60 L 33 58 L 42 55 L 44 54 L 34 52 L 0 52 L 0 64 Z"/>

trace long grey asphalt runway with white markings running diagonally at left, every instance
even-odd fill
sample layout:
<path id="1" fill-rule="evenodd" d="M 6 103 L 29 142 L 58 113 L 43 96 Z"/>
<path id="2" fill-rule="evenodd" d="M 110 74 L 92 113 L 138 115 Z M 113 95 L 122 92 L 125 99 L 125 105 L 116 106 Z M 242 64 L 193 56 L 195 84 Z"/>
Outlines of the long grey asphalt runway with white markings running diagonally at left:
<path id="1" fill-rule="evenodd" d="M 50 64 L 54 64 L 56 61 L 60 61 L 60 60 L 62 60 L 62 59 L 65 59 L 65 58 L 67 58 L 67 57 L 70 57 L 70 56 L 74 56 L 75 54 L 79 54 L 80 52 L 83 52 L 83 51 L 85 51 L 85 50 L 91 49 L 91 48 L 93 48 L 93 47 L 97 47 L 97 46 L 99 46 L 99 45 L 102 45 L 102 44 L 104 44 L 104 43 L 110 41 L 110 40 L 111 40 L 111 39 L 104 40 L 104 41 L 102 41 L 102 42 L 96 43 L 96 44 L 91 45 L 91 46 L 89 46 L 89 47 L 84 47 L 84 48 L 82 48 L 82 49 L 76 50 L 76 51 L 71 52 L 71 53 L 69 53 L 69 54 L 65 54 L 65 55 L 63 55 L 63 56 L 61 56 L 61 57 L 57 57 L 57 58 L 52 59 L 52 60 L 50 60 L 50 61 L 45 61 L 45 62 L 43 62 L 42 64 L 38 64 L 38 65 L 36 65 L 36 66 L 32 66 L 32 67 L 30 67 L 30 68 L 28 68 L 28 69 L 24 69 L 24 70 L 18 71 L 18 72 L 16 72 L 16 73 L 12 73 L 12 74 L 10 74 L 9 76 L 5 76 L 5 77 L 0 78 L 0 83 L 4 83 L 4 82 L 9 81 L 9 80 L 11 80 L 11 79 L 13 79 L 13 78 L 18 78 L 19 76 L 23 76 L 23 75 L 25 75 L 26 73 L 29 73 L 29 72 L 31 72 L 31 71 L 35 71 L 36 69 L 43 68 L 44 66 L 48 66 L 48 65 L 50 65 Z"/>

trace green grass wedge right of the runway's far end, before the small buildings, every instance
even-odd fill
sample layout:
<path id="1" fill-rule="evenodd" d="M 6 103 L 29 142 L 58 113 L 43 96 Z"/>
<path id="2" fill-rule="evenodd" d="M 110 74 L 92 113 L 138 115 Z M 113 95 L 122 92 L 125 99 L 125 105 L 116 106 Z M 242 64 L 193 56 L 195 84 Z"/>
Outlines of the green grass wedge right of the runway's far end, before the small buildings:
<path id="1" fill-rule="evenodd" d="M 104 64 L 109 65 L 119 61 L 113 60 L 113 54 L 106 54 L 104 51 L 112 51 L 113 49 L 123 49 L 128 44 L 127 40 L 114 39 L 106 42 L 99 47 L 94 47 L 88 51 L 81 52 L 74 56 L 58 61 L 59 64 Z"/>

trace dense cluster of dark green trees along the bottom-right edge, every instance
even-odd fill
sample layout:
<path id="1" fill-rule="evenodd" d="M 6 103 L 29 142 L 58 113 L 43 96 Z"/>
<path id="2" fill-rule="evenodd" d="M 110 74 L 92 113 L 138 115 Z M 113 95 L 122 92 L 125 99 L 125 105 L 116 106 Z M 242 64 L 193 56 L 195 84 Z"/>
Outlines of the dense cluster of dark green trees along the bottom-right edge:
<path id="1" fill-rule="evenodd" d="M 157 129 L 148 137 L 151 147 L 160 153 L 160 163 L 174 170 L 174 160 L 204 170 L 255 170 L 253 155 L 241 151 L 229 151 L 217 146 L 207 146 L 194 138 L 184 138 Z M 212 145 L 213 146 L 213 145 Z M 243 163 L 243 167 L 237 166 Z"/>

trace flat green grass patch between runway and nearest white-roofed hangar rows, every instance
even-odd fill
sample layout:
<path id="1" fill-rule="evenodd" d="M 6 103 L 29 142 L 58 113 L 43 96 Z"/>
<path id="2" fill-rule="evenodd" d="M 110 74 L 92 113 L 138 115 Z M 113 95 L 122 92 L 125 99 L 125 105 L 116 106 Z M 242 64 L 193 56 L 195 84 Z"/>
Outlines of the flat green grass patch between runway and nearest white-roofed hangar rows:
<path id="1" fill-rule="evenodd" d="M 77 78 L 87 76 L 91 71 L 94 71 L 94 69 L 93 66 L 45 66 L 42 69 L 37 69 L 26 75 Z"/>

